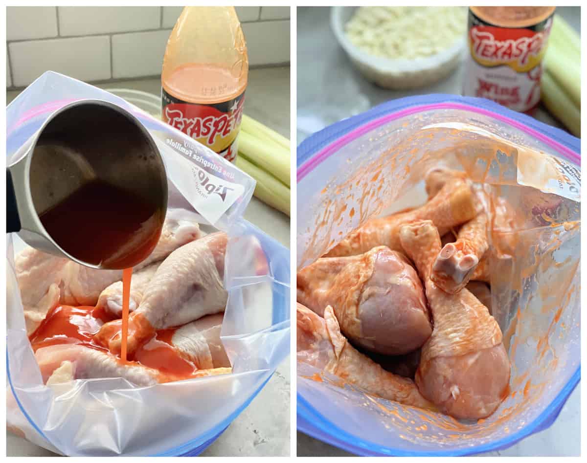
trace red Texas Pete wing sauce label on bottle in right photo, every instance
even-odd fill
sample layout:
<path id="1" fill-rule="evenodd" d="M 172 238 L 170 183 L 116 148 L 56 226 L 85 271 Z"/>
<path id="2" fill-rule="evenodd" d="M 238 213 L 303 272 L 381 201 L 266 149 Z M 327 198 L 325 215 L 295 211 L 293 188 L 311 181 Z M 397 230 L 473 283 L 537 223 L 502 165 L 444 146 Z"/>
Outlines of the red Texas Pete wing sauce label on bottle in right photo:
<path id="1" fill-rule="evenodd" d="M 532 109 L 540 99 L 541 63 L 551 26 L 552 16 L 527 28 L 503 28 L 469 10 L 464 94 L 517 111 Z"/>

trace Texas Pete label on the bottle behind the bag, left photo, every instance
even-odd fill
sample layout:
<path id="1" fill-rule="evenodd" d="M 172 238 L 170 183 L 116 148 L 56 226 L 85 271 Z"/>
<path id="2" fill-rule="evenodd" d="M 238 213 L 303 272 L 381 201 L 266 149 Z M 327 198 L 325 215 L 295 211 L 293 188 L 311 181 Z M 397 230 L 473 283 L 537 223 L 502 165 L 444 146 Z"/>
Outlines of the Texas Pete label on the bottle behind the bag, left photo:
<path id="1" fill-rule="evenodd" d="M 197 104 L 180 100 L 161 87 L 162 119 L 228 161 L 237 157 L 245 92 L 226 102 Z"/>

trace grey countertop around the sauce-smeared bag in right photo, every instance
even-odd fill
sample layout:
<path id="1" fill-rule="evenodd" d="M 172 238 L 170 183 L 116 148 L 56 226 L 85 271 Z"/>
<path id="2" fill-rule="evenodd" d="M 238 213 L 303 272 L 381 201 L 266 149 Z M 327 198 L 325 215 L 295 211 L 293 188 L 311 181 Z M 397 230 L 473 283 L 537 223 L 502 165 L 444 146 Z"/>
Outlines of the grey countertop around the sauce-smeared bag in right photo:
<path id="1" fill-rule="evenodd" d="M 557 8 L 556 12 L 580 31 L 580 8 Z M 362 113 L 372 106 L 404 96 L 425 93 L 461 93 L 463 67 L 433 86 L 410 92 L 393 92 L 376 87 L 363 79 L 351 65 L 330 30 L 330 8 L 298 8 L 298 102 L 297 140 L 323 129 L 340 119 Z M 540 107 L 537 119 L 559 126 Z M 548 429 L 518 444 L 484 455 L 579 455 L 580 387 L 571 394 L 561 414 Z M 299 456 L 350 455 L 339 448 L 298 432 Z"/>

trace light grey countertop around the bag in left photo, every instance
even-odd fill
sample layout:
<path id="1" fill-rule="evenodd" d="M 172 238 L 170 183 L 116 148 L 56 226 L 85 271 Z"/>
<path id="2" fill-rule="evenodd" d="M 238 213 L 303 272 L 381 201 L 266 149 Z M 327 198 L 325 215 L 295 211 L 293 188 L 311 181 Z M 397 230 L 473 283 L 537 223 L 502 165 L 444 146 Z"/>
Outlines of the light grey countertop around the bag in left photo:
<path id="1" fill-rule="evenodd" d="M 101 88 L 130 88 L 154 94 L 161 92 L 160 79 L 140 79 L 97 85 Z M 6 103 L 18 91 L 6 92 Z M 251 69 L 245 113 L 289 138 L 289 67 Z M 245 218 L 289 248 L 289 217 L 252 198 Z M 279 365 L 271 380 L 226 431 L 202 455 L 287 456 L 289 455 L 289 357 Z M 270 406 L 268 406 L 270 404 Z M 56 456 L 6 432 L 6 456 Z"/>

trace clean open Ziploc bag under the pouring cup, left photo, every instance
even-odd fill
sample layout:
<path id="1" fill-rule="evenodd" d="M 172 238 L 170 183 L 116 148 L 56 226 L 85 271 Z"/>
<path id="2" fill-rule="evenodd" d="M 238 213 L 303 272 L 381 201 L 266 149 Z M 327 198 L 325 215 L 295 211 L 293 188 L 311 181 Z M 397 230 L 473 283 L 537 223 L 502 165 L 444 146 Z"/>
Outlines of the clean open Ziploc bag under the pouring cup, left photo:
<path id="1" fill-rule="evenodd" d="M 8 428 L 65 455 L 195 455 L 247 407 L 289 354 L 289 250 L 242 218 L 255 185 L 247 174 L 119 97 L 58 73 L 43 74 L 6 109 L 9 164 L 50 113 L 79 99 L 106 100 L 133 113 L 163 155 L 168 208 L 208 224 L 203 228 L 229 235 L 224 271 L 228 302 L 221 339 L 232 373 L 151 387 L 137 387 L 122 378 L 44 386 L 26 336 L 16 282 L 14 255 L 22 242 L 10 235 Z M 223 204 L 201 188 L 204 178 L 232 188 Z"/>

